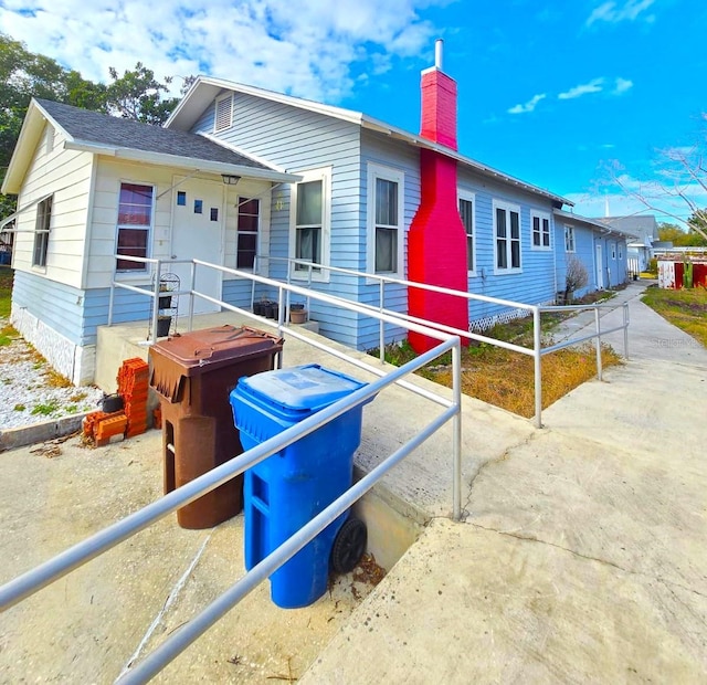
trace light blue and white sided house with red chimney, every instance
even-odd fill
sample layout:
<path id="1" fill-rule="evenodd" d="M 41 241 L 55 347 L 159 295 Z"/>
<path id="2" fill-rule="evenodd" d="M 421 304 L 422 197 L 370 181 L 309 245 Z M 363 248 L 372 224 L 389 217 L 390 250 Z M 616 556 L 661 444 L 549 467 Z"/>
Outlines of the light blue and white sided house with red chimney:
<path id="1" fill-rule="evenodd" d="M 569 225 L 597 276 L 593 287 L 625 277 L 621 232 L 582 223 L 562 197 L 457 151 L 456 84 L 442 70 L 440 46 L 422 73 L 420 135 L 199 77 L 163 128 L 33 101 L 2 191 L 19 196 L 13 325 L 75 383 L 93 378 L 114 275 L 152 283 L 145 263 L 116 253 L 256 270 L 374 305 L 373 276 L 552 304 L 563 289 Z M 601 268 L 600 247 L 584 244 L 590 234 L 601 244 Z M 176 263 L 171 271 L 189 289 L 189 268 Z M 197 278 L 213 299 L 251 306 L 244 280 L 213 270 Z M 261 287 L 261 295 L 272 293 Z M 194 304 L 197 313 L 219 306 Z M 116 291 L 114 322 L 147 319 L 149 306 L 144 295 Z M 384 306 L 463 329 L 518 315 L 394 282 Z M 377 324 L 359 314 L 314 302 L 310 317 L 323 335 L 351 347 L 379 344 Z M 388 340 L 403 335 L 387 329 Z M 422 349 L 425 340 L 413 344 Z"/>

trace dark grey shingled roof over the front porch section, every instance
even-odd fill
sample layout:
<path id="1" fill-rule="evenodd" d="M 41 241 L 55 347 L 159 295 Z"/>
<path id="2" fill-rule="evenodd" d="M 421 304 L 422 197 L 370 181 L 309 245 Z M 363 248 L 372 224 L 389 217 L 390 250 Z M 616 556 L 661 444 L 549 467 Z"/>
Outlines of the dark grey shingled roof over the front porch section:
<path id="1" fill-rule="evenodd" d="M 49 99 L 38 98 L 36 103 L 75 143 L 274 170 L 196 134 L 123 119 Z"/>

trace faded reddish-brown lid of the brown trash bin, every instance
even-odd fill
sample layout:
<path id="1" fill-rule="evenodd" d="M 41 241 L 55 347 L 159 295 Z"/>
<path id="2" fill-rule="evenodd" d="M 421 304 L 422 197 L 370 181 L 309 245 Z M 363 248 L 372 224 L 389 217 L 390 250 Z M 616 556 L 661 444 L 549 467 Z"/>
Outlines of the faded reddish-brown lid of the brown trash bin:
<path id="1" fill-rule="evenodd" d="M 212 370 L 234 359 L 279 351 L 282 346 L 282 338 L 264 330 L 226 324 L 159 340 L 150 354 L 176 361 L 184 376 L 193 376 L 207 365 Z"/>

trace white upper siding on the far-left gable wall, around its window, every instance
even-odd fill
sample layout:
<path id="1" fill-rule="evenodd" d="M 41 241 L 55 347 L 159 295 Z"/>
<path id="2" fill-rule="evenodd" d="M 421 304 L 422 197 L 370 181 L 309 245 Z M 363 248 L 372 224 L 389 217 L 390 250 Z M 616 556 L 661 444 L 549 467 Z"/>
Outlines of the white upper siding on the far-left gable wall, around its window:
<path id="1" fill-rule="evenodd" d="M 54 196 L 46 268 L 32 266 L 36 204 L 18 218 L 20 232 L 15 236 L 12 263 L 19 271 L 82 287 L 93 155 L 65 150 L 63 138 L 57 134 L 53 135 L 50 150 L 46 130 L 40 138 L 18 197 L 18 207 L 22 208 L 49 193 Z M 49 130 L 53 133 L 53 129 Z"/>

